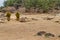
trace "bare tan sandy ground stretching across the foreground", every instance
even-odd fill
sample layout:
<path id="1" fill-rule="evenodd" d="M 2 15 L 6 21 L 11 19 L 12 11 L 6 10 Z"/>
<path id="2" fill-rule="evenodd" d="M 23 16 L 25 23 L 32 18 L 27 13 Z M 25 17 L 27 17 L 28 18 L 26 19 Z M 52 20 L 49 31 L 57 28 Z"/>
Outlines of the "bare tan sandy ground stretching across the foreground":
<path id="1" fill-rule="evenodd" d="M 49 14 L 37 15 L 21 15 L 21 17 L 36 18 L 36 21 L 18 22 L 11 20 L 0 24 L 0 40 L 60 40 L 57 36 L 60 35 L 60 24 L 55 23 L 55 20 L 60 16 L 54 17 L 52 20 L 44 20 L 44 17 L 54 17 Z M 12 15 L 12 18 L 15 18 Z M 34 36 L 39 31 L 46 31 L 56 35 L 54 38 L 46 38 Z"/>

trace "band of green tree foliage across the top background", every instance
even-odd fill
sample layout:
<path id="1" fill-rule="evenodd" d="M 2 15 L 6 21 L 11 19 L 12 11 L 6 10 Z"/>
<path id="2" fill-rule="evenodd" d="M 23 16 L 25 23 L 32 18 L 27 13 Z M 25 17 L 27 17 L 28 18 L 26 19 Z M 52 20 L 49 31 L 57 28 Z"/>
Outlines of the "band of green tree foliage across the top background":
<path id="1" fill-rule="evenodd" d="M 60 7 L 60 0 L 7 0 L 4 2 L 4 6 L 16 6 L 23 5 L 26 9 L 31 7 L 43 9 L 48 11 L 54 9 L 55 7 Z"/>

